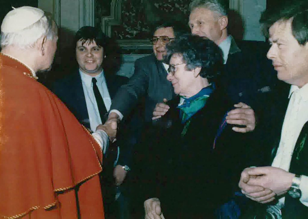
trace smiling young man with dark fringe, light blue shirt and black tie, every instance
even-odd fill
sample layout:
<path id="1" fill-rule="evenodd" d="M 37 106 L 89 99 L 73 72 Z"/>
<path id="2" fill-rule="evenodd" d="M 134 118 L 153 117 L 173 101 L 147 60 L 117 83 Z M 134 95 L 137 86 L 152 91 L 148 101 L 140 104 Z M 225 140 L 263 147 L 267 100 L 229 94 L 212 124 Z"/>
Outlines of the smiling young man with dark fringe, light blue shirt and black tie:
<path id="1" fill-rule="evenodd" d="M 66 104 L 79 122 L 92 132 L 95 132 L 99 124 L 105 123 L 112 97 L 128 80 L 103 69 L 104 59 L 112 52 L 111 49 L 108 50 L 110 44 L 111 39 L 98 29 L 90 26 L 81 27 L 74 40 L 79 68 L 55 81 L 52 86 L 52 91 Z M 103 152 L 105 156 L 110 157 L 110 153 L 106 153 L 106 150 Z M 112 176 L 114 159 L 105 163 L 103 178 L 104 187 L 107 185 L 108 190 L 104 196 L 106 214 L 112 211 L 108 203 L 112 203 L 115 197 Z"/>

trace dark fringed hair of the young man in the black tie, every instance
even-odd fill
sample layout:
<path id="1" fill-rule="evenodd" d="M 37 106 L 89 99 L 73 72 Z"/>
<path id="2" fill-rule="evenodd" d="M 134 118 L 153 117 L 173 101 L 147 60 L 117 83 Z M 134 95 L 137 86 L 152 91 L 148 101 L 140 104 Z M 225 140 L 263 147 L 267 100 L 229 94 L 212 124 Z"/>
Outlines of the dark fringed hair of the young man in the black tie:
<path id="1" fill-rule="evenodd" d="M 87 41 L 89 41 L 90 43 L 94 41 L 98 46 L 104 48 L 104 53 L 106 54 L 107 51 L 105 50 L 110 41 L 110 38 L 96 27 L 84 26 L 81 27 L 75 34 L 74 38 L 75 47 L 79 40 L 82 40 L 82 45 Z"/>

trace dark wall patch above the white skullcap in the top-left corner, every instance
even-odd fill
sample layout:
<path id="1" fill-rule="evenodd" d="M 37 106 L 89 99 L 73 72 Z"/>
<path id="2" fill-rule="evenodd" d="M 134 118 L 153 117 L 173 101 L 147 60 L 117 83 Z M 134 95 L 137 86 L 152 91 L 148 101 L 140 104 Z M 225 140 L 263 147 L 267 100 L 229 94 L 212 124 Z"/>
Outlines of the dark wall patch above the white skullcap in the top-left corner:
<path id="1" fill-rule="evenodd" d="M 4 16 L 7 14 L 7 12 L 12 10 L 12 6 L 17 8 L 20 6 L 38 6 L 38 0 L 3 0 L 1 1 L 0 6 L 0 23 L 2 23 L 2 20 Z"/>

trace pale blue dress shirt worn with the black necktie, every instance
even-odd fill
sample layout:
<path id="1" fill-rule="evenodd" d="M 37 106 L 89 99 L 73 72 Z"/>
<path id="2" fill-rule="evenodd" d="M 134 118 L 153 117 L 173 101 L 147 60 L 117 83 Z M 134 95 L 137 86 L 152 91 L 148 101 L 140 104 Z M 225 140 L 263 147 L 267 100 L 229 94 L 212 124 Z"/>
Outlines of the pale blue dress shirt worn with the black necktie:
<path id="1" fill-rule="evenodd" d="M 79 69 L 79 74 L 80 74 L 81 81 L 82 81 L 84 97 L 86 99 L 87 111 L 88 111 L 89 120 L 90 120 L 90 128 L 92 132 L 95 132 L 96 127 L 99 124 L 102 124 L 102 120 L 99 116 L 99 110 L 98 110 L 98 106 L 97 106 L 96 99 L 95 99 L 94 92 L 93 92 L 93 84 L 92 84 L 93 77 L 90 75 L 84 74 L 80 69 Z M 111 106 L 111 98 L 109 95 L 109 91 L 108 91 L 108 87 L 106 84 L 103 71 L 99 75 L 95 76 L 95 79 L 97 80 L 96 85 L 98 87 L 100 95 L 103 98 L 105 107 L 107 111 L 109 111 L 110 106 Z"/>

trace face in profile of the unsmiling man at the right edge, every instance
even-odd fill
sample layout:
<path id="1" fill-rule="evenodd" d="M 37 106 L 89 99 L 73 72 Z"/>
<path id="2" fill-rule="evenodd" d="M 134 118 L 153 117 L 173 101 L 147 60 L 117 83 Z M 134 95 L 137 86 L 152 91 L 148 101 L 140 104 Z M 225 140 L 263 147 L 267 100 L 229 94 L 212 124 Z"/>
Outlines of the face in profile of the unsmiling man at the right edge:
<path id="1" fill-rule="evenodd" d="M 291 19 L 277 21 L 269 30 L 271 47 L 267 58 L 273 61 L 279 80 L 299 87 L 308 83 L 308 44 L 300 45 L 292 34 Z"/>

